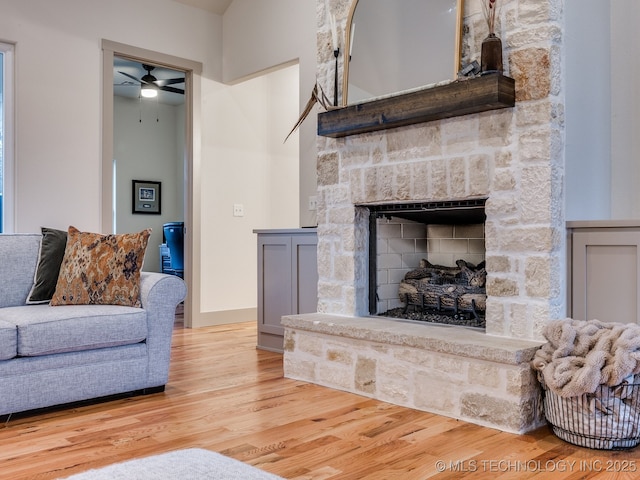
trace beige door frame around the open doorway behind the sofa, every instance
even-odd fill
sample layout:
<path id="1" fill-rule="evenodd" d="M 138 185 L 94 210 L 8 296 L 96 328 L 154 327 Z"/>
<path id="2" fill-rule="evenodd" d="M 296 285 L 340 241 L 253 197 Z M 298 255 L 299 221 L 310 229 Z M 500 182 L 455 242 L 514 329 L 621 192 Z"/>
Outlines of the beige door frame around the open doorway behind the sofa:
<path id="1" fill-rule="evenodd" d="M 199 282 L 200 278 L 200 223 L 197 221 L 200 214 L 199 183 L 194 184 L 194 179 L 199 178 L 198 163 L 200 138 L 198 124 L 194 121 L 200 115 L 200 78 L 202 75 L 202 63 L 175 57 L 153 50 L 146 50 L 123 43 L 102 40 L 102 195 L 101 195 L 101 228 L 103 232 L 113 230 L 113 59 L 124 57 L 140 62 L 148 62 L 155 65 L 182 70 L 185 72 L 185 176 L 184 176 L 184 221 L 185 221 L 185 269 L 184 280 L 187 284 L 187 298 L 184 301 L 185 327 L 191 327 L 194 322 L 194 314 L 199 314 L 199 308 L 193 308 L 200 304 Z M 197 271 L 196 271 L 197 270 Z"/>

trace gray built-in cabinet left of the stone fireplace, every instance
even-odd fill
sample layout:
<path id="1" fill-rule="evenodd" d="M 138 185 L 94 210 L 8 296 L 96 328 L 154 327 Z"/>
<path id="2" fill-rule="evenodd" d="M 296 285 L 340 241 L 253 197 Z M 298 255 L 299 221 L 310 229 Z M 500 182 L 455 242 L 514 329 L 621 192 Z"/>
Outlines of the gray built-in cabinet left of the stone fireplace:
<path id="1" fill-rule="evenodd" d="M 283 315 L 318 306 L 315 228 L 254 230 L 258 234 L 258 348 L 282 352 Z"/>

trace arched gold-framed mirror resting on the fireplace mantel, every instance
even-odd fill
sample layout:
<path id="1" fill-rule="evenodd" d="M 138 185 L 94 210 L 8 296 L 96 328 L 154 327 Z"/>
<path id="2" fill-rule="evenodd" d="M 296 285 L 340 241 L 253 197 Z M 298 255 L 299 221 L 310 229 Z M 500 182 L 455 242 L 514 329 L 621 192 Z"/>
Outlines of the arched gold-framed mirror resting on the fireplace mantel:
<path id="1" fill-rule="evenodd" d="M 353 0 L 345 28 L 342 104 L 453 81 L 463 0 Z M 357 28 L 356 28 L 357 27 Z"/>

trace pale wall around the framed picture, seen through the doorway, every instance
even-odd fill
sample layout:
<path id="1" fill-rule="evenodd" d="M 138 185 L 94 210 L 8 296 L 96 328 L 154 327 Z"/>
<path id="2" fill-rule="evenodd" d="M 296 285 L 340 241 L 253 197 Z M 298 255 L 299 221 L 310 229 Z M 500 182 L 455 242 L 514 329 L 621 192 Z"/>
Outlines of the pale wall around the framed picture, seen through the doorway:
<path id="1" fill-rule="evenodd" d="M 159 272 L 162 225 L 184 221 L 184 106 L 114 97 L 113 117 L 116 233 L 152 228 L 144 270 Z M 160 215 L 131 212 L 132 180 L 162 182 Z"/>

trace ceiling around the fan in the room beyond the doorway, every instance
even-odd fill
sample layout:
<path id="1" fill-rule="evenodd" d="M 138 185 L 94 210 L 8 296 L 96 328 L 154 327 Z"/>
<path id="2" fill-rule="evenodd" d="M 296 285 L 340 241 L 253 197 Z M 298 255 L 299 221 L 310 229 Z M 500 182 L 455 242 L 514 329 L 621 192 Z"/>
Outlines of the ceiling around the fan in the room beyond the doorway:
<path id="1" fill-rule="evenodd" d="M 140 62 L 134 62 L 121 57 L 113 58 L 113 94 L 119 97 L 139 98 L 140 96 L 140 82 L 135 82 L 131 78 L 123 75 L 120 72 L 128 73 L 129 75 L 142 78 L 146 75 L 147 71 L 142 68 Z M 165 67 L 155 67 L 151 74 L 158 80 L 164 80 L 167 78 L 184 78 L 184 72 L 178 70 L 171 70 Z M 184 83 L 177 83 L 172 85 L 175 88 L 184 89 Z M 184 95 L 173 92 L 158 92 L 156 97 L 159 103 L 166 103 L 169 105 L 181 105 L 184 103 Z M 144 99 L 144 101 L 155 101 L 155 99 Z"/>

